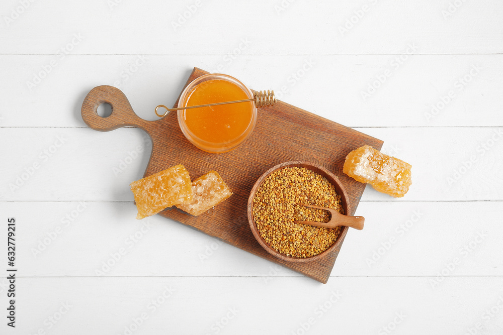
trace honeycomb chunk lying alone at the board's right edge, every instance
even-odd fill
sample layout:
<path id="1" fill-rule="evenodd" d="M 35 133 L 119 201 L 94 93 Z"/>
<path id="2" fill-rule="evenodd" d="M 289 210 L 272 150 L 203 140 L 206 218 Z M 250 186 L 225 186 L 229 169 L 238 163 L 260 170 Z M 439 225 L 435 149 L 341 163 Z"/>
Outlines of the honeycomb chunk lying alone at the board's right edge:
<path id="1" fill-rule="evenodd" d="M 412 165 L 366 145 L 349 153 L 343 172 L 359 182 L 372 184 L 379 192 L 402 197 L 412 184 L 411 168 Z"/>

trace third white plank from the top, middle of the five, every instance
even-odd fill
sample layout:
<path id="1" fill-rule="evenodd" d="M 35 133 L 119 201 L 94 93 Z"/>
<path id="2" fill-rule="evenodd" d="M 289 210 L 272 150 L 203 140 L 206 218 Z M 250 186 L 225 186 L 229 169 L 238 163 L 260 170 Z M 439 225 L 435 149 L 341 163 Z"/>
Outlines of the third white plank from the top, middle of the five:
<path id="1" fill-rule="evenodd" d="M 384 140 L 383 151 L 410 162 L 414 173 L 406 197 L 369 186 L 363 200 L 503 200 L 501 127 L 358 130 Z M 2 200 L 133 200 L 129 183 L 143 176 L 151 151 L 135 128 L 5 128 L 3 134 L 0 154 L 10 160 L 0 162 Z"/>

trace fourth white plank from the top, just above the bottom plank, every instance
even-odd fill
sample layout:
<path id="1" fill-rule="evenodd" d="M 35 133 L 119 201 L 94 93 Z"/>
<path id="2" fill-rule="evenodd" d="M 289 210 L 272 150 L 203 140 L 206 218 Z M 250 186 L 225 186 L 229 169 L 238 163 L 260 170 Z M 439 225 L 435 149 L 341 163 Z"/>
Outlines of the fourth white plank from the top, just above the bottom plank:
<path id="1" fill-rule="evenodd" d="M 455 257 L 444 277 L 503 276 L 500 207 L 364 201 L 367 226 L 349 232 L 332 276 L 436 276 Z M 172 220 L 138 221 L 132 201 L 2 202 L 0 211 L 19 222 L 25 276 L 300 276 Z"/>

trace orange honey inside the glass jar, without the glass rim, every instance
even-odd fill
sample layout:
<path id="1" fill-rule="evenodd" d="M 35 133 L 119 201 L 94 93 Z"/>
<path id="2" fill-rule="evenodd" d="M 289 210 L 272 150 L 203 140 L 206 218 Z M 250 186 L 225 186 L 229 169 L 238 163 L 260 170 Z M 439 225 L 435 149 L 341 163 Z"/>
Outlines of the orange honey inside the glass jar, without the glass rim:
<path id="1" fill-rule="evenodd" d="M 187 94 L 185 106 L 243 100 L 249 96 L 236 84 L 213 79 L 204 81 Z M 233 146 L 249 130 L 253 119 L 253 101 L 221 104 L 183 110 L 187 128 L 196 137 L 222 146 Z"/>

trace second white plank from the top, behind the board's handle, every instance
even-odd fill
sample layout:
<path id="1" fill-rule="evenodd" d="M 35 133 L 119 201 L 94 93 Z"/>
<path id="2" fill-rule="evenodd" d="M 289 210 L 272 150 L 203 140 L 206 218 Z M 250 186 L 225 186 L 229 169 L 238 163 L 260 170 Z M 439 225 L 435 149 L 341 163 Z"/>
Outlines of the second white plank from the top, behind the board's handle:
<path id="1" fill-rule="evenodd" d="M 0 101 L 0 125 L 83 127 L 80 101 L 104 84 L 122 89 L 140 117 L 157 120 L 155 106 L 175 102 L 194 66 L 222 66 L 250 87 L 274 89 L 281 100 L 349 127 L 503 125 L 503 55 L 400 57 L 0 56 L 0 77 L 15 82 L 0 89 L 24 101 Z"/>

